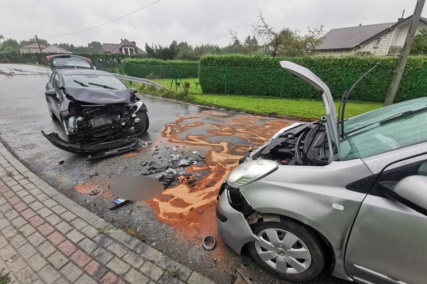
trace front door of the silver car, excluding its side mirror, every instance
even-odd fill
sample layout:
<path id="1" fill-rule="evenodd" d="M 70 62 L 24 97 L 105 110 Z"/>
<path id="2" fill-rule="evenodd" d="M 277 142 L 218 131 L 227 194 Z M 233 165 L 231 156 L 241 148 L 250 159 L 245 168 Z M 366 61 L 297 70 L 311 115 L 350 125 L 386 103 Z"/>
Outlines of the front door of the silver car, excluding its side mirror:
<path id="1" fill-rule="evenodd" d="M 427 216 L 386 197 L 390 184 L 413 175 L 427 176 L 427 154 L 384 167 L 363 201 L 345 253 L 355 282 L 426 283 Z"/>

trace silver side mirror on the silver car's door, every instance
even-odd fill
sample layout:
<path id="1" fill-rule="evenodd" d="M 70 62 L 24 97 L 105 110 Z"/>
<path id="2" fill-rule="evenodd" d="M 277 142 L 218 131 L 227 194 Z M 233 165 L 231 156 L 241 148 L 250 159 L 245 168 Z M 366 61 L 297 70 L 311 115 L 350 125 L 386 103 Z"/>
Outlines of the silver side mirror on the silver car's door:
<path id="1" fill-rule="evenodd" d="M 427 215 L 427 176 L 409 176 L 389 191 L 389 197 Z"/>

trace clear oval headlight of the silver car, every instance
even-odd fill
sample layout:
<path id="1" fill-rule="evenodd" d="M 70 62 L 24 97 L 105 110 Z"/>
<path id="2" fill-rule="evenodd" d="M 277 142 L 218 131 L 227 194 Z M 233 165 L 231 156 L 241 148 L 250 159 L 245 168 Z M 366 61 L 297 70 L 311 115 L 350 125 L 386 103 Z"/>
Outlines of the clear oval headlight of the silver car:
<path id="1" fill-rule="evenodd" d="M 233 188 L 240 188 L 267 176 L 278 167 L 278 163 L 271 160 L 258 159 L 244 162 L 230 173 L 227 184 Z"/>

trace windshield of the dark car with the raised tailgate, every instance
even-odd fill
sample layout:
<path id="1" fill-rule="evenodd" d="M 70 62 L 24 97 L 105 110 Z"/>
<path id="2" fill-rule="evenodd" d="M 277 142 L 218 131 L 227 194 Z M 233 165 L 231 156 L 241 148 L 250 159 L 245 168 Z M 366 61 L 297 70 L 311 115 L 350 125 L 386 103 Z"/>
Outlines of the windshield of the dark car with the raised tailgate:
<path id="1" fill-rule="evenodd" d="M 104 88 L 114 90 L 125 90 L 126 85 L 120 79 L 108 75 L 93 75 L 93 74 L 70 74 L 63 75 L 65 87 L 91 87 Z"/>

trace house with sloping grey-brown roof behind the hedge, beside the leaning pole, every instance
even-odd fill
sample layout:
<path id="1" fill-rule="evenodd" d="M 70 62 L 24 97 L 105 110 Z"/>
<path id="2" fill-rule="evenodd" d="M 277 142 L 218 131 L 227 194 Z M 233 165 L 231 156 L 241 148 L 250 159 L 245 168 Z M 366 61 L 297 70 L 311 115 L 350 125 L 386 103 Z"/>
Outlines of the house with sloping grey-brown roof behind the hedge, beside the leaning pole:
<path id="1" fill-rule="evenodd" d="M 412 16 L 397 22 L 332 29 L 323 36 L 316 48 L 320 55 L 400 55 L 409 32 Z M 427 18 L 421 17 L 417 29 L 427 28 Z"/>

